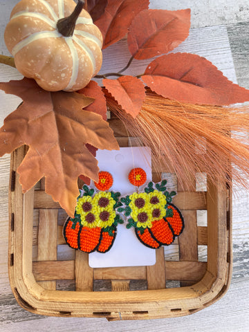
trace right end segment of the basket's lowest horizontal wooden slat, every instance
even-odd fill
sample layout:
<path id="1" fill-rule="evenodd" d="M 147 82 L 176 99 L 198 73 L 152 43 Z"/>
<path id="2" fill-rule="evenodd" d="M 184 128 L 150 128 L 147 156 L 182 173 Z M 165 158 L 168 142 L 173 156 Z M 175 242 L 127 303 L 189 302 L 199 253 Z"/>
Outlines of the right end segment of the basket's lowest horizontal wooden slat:
<path id="1" fill-rule="evenodd" d="M 198 282 L 205 275 L 204 261 L 165 261 L 166 279 Z"/>

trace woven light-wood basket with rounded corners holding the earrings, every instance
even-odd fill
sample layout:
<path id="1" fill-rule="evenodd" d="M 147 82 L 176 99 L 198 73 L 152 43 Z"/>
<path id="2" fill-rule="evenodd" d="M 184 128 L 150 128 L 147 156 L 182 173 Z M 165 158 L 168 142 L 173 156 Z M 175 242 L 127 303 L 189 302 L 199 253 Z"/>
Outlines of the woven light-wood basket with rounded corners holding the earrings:
<path id="1" fill-rule="evenodd" d="M 120 146 L 128 146 L 120 122 L 110 123 Z M 206 192 L 178 187 L 173 203 L 185 218 L 185 230 L 172 245 L 178 260 L 165 260 L 160 248 L 154 266 L 90 268 L 87 254 L 66 246 L 66 213 L 44 192 L 43 181 L 21 193 L 16 170 L 25 153 L 26 147 L 12 153 L 9 199 L 9 276 L 20 306 L 39 315 L 145 320 L 190 315 L 228 290 L 232 225 L 225 179 Z M 199 210 L 207 211 L 206 226 L 197 223 Z M 201 246 L 207 261 L 199 261 Z"/>

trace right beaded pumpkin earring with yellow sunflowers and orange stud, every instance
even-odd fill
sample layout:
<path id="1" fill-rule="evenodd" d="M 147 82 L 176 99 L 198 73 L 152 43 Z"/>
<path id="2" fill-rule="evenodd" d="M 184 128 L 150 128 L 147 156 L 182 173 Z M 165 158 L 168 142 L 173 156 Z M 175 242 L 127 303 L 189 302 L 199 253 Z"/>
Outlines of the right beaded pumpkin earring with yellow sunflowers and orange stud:
<path id="1" fill-rule="evenodd" d="M 120 199 L 125 207 L 118 208 L 118 212 L 130 216 L 127 228 L 134 227 L 138 240 L 149 248 L 169 246 L 184 228 L 183 215 L 172 204 L 176 192 L 167 191 L 166 180 L 149 182 L 139 192 L 139 187 L 147 180 L 142 168 L 131 169 L 128 179 L 138 190 Z"/>

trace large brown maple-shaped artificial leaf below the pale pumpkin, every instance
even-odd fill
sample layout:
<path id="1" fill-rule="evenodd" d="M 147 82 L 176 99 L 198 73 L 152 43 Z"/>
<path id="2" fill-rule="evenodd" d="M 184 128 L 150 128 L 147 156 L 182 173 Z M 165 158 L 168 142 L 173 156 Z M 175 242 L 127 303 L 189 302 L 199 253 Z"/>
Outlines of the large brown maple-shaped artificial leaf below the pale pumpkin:
<path id="1" fill-rule="evenodd" d="M 99 149 L 118 149 L 109 124 L 98 114 L 85 111 L 92 98 L 80 93 L 49 92 L 35 80 L 0 83 L 6 93 L 24 101 L 4 120 L 0 129 L 0 155 L 28 145 L 18 167 L 23 192 L 45 176 L 45 190 L 73 216 L 79 194 L 77 177 L 98 181 L 98 162 L 86 143 Z"/>

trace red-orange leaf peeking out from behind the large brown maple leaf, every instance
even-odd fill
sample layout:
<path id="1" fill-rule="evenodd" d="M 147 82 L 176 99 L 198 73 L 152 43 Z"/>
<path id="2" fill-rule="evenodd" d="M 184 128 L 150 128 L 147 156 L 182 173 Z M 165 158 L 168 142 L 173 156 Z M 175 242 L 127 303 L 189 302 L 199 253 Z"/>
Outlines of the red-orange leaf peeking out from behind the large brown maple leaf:
<path id="1" fill-rule="evenodd" d="M 77 93 L 82 93 L 83 95 L 87 95 L 88 97 L 95 98 L 92 104 L 85 107 L 85 110 L 100 114 L 103 120 L 107 120 L 107 100 L 104 98 L 104 92 L 102 91 L 98 83 L 90 81 L 87 86 L 77 91 Z M 93 147 L 89 144 L 86 144 L 86 147 L 87 149 L 89 149 L 93 156 L 96 156 L 96 151 L 98 150 L 96 147 Z M 84 181 L 84 183 L 90 185 L 90 178 L 84 175 L 81 175 L 80 178 Z"/>

